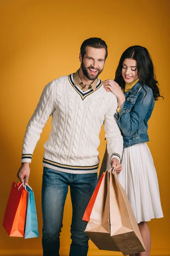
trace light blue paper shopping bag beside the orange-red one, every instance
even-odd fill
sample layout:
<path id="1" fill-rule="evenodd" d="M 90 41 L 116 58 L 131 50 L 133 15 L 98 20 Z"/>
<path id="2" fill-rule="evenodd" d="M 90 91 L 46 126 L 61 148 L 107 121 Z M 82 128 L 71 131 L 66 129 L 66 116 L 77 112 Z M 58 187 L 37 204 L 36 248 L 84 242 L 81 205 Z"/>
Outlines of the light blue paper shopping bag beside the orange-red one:
<path id="1" fill-rule="evenodd" d="M 27 210 L 26 210 L 26 225 L 24 230 L 24 238 L 39 237 L 37 211 L 35 207 L 34 192 L 30 186 L 26 186 L 27 191 Z"/>

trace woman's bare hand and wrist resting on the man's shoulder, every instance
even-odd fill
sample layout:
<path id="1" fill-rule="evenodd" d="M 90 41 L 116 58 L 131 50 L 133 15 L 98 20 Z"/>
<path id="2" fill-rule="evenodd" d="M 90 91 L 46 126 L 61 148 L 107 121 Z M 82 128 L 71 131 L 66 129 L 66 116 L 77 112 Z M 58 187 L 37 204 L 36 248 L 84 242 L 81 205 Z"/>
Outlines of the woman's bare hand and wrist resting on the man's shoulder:
<path id="1" fill-rule="evenodd" d="M 113 79 L 103 81 L 103 85 L 106 91 L 112 92 L 118 99 L 118 108 L 120 108 L 125 102 L 125 95 L 122 92 L 122 88 Z"/>

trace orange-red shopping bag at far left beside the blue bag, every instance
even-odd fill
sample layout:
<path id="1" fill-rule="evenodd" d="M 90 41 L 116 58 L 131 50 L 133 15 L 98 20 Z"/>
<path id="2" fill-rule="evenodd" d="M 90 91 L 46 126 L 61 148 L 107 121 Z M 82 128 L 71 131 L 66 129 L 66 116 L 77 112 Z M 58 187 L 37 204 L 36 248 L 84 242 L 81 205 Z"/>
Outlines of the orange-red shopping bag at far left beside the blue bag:
<path id="1" fill-rule="evenodd" d="M 25 219 L 26 189 L 20 182 L 13 182 L 3 218 L 3 227 L 9 236 L 23 237 Z"/>

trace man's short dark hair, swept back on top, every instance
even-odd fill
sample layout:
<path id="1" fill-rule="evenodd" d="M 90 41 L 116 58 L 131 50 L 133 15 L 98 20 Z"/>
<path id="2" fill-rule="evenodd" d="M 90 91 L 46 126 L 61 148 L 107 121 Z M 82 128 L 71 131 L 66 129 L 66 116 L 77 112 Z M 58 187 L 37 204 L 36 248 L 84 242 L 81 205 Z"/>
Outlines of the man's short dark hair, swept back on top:
<path id="1" fill-rule="evenodd" d="M 106 51 L 105 60 L 108 57 L 108 47 L 107 47 L 107 44 L 105 43 L 105 41 L 103 41 L 101 38 L 88 38 L 82 43 L 82 45 L 80 47 L 80 53 L 82 55 L 82 60 L 86 53 L 87 46 L 94 47 L 97 49 L 105 48 L 105 51 Z"/>

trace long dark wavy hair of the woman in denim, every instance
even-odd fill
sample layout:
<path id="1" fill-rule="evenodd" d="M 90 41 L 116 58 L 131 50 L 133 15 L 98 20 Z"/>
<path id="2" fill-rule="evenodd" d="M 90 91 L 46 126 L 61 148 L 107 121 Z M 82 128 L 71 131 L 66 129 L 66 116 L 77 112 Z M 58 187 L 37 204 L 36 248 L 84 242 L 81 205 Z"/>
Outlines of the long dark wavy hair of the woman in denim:
<path id="1" fill-rule="evenodd" d="M 125 61 L 126 58 L 137 61 L 139 83 L 142 88 L 144 88 L 144 84 L 149 86 L 153 90 L 153 97 L 155 100 L 162 97 L 160 96 L 159 84 L 154 74 L 151 56 L 145 47 L 139 45 L 127 48 L 120 58 L 119 65 L 116 70 L 115 81 L 122 87 L 122 89 L 125 88 L 125 81 L 122 77 L 122 67 L 123 61 Z"/>

